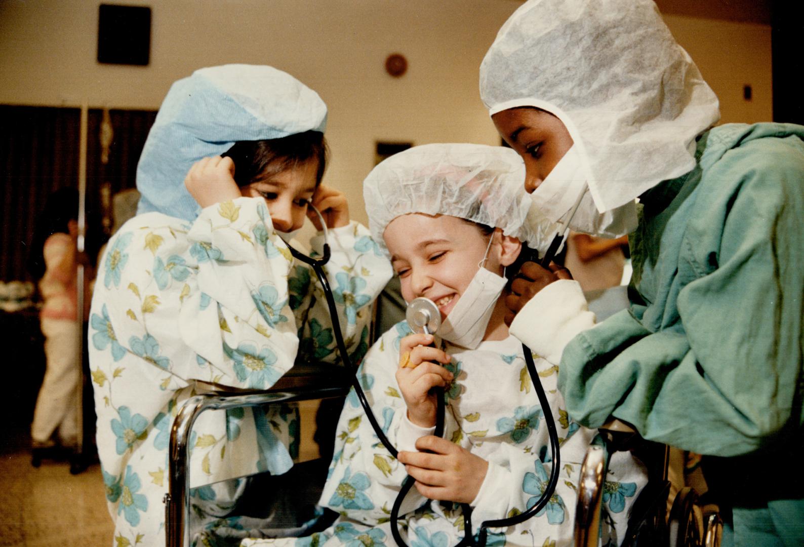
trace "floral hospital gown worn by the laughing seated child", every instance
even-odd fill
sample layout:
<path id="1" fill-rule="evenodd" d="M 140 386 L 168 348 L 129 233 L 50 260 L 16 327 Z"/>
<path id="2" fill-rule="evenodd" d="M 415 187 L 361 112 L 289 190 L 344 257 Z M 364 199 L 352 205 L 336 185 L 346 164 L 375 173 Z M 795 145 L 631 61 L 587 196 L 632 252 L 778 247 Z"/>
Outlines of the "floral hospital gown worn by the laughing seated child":
<path id="1" fill-rule="evenodd" d="M 360 383 L 388 439 L 399 446 L 429 434 L 403 417 L 406 406 L 396 383 L 399 344 L 408 335 L 399 323 L 375 343 L 363 361 Z M 513 516 L 532 507 L 550 474 L 544 411 L 527 373 L 522 343 L 513 336 L 482 342 L 477 349 L 450 343 L 442 348 L 452 357 L 454 374 L 445 389 L 445 438 L 489 462 L 486 479 L 472 502 L 472 524 L 478 533 L 484 520 Z M 548 395 L 561 439 L 561 471 L 556 493 L 536 516 L 510 528 L 491 528 L 486 545 L 572 545 L 580 463 L 595 432 L 568 419 L 564 399 L 556 390 L 558 367 L 542 358 L 536 369 Z M 406 430 L 406 431 L 403 431 Z M 325 532 L 281 540 L 246 540 L 243 545 L 294 547 L 380 547 L 395 545 L 389 516 L 405 471 L 377 440 L 352 391 L 338 423 L 335 454 L 320 503 L 340 513 Z M 410 449 L 408 449 L 410 450 Z M 630 453 L 613 455 L 603 494 L 602 545 L 617 545 L 626 533 L 626 516 L 646 483 L 641 463 Z M 416 488 L 400 511 L 402 537 L 410 547 L 450 547 L 463 537 L 458 504 L 429 501 Z"/>

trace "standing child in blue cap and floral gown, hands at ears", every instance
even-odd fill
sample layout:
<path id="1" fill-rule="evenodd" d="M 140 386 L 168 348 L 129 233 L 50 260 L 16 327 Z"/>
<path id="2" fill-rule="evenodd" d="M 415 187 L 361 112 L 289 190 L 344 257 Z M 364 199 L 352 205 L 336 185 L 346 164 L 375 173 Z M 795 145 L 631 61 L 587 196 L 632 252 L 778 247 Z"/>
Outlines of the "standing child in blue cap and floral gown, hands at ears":
<path id="1" fill-rule="evenodd" d="M 315 276 L 283 241 L 310 204 L 330 228 L 343 337 L 353 359 L 367 349 L 368 306 L 391 269 L 343 194 L 321 184 L 325 125 L 318 94 L 265 66 L 200 69 L 159 110 L 137 168 L 140 214 L 109 241 L 92 298 L 97 446 L 117 545 L 164 545 L 168 437 L 187 397 L 269 388 L 297 354 L 338 359 Z M 314 253 L 322 244 L 310 241 Z M 298 427 L 288 405 L 199 417 L 194 535 L 258 533 L 260 520 L 236 507 L 248 483 L 237 478 L 288 471 Z"/>

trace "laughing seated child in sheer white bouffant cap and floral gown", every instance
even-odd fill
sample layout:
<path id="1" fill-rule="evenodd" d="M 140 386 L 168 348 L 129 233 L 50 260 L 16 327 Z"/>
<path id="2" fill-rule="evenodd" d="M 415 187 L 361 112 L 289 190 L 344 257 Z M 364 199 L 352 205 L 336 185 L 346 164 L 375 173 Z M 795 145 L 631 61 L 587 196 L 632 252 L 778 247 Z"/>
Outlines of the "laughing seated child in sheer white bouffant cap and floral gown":
<path id="1" fill-rule="evenodd" d="M 552 466 L 548 409 L 531 385 L 522 343 L 503 323 L 506 270 L 516 267 L 523 244 L 544 252 L 556 229 L 532 207 L 523 175 L 514 151 L 471 144 L 416 146 L 368 175 L 363 195 L 375 241 L 391 257 L 405 300 L 430 298 L 442 323 L 434 336 L 399 323 L 369 350 L 359 377 L 398 459 L 351 393 L 320 501 L 341 516 L 295 545 L 392 545 L 388 517 L 406 472 L 416 488 L 399 524 L 412 546 L 457 545 L 486 520 L 524 512 L 544 491 Z M 487 545 L 572 545 L 580 462 L 594 432 L 568 420 L 555 363 L 537 356 L 535 364 L 561 439 L 561 479 L 544 509 L 522 524 L 491 528 Z M 444 389 L 443 438 L 433 435 L 434 386 Z M 621 453 L 606 481 L 603 545 L 617 545 L 645 477 Z M 472 508 L 471 530 L 461 504 Z M 277 542 L 291 540 L 244 545 Z"/>

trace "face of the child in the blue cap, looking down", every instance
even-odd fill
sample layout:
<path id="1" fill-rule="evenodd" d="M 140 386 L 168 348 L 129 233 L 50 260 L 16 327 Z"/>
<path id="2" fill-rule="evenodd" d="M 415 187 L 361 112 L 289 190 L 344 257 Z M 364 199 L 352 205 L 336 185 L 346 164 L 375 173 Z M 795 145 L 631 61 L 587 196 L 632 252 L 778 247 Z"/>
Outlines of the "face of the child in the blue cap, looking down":
<path id="1" fill-rule="evenodd" d="M 252 183 L 240 187 L 240 193 L 246 197 L 265 199 L 273 227 L 279 232 L 292 232 L 304 224 L 307 206 L 318 182 L 317 170 L 317 159 L 298 163 L 277 173 L 269 168 L 255 177 Z"/>

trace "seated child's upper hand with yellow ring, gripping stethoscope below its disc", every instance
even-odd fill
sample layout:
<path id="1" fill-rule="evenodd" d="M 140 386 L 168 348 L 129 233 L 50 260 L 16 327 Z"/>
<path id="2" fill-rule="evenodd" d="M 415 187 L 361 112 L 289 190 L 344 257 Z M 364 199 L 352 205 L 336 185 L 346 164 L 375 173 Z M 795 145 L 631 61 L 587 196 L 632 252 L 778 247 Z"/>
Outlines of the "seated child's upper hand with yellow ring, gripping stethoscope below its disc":
<path id="1" fill-rule="evenodd" d="M 400 368 L 396 369 L 396 382 L 408 405 L 408 420 L 419 427 L 436 424 L 436 395 L 429 393 L 430 389 L 453 380 L 453 373 L 441 366 L 449 363 L 449 356 L 438 348 L 429 348 L 429 343 L 433 343 L 433 335 L 414 334 L 401 339 Z"/>

